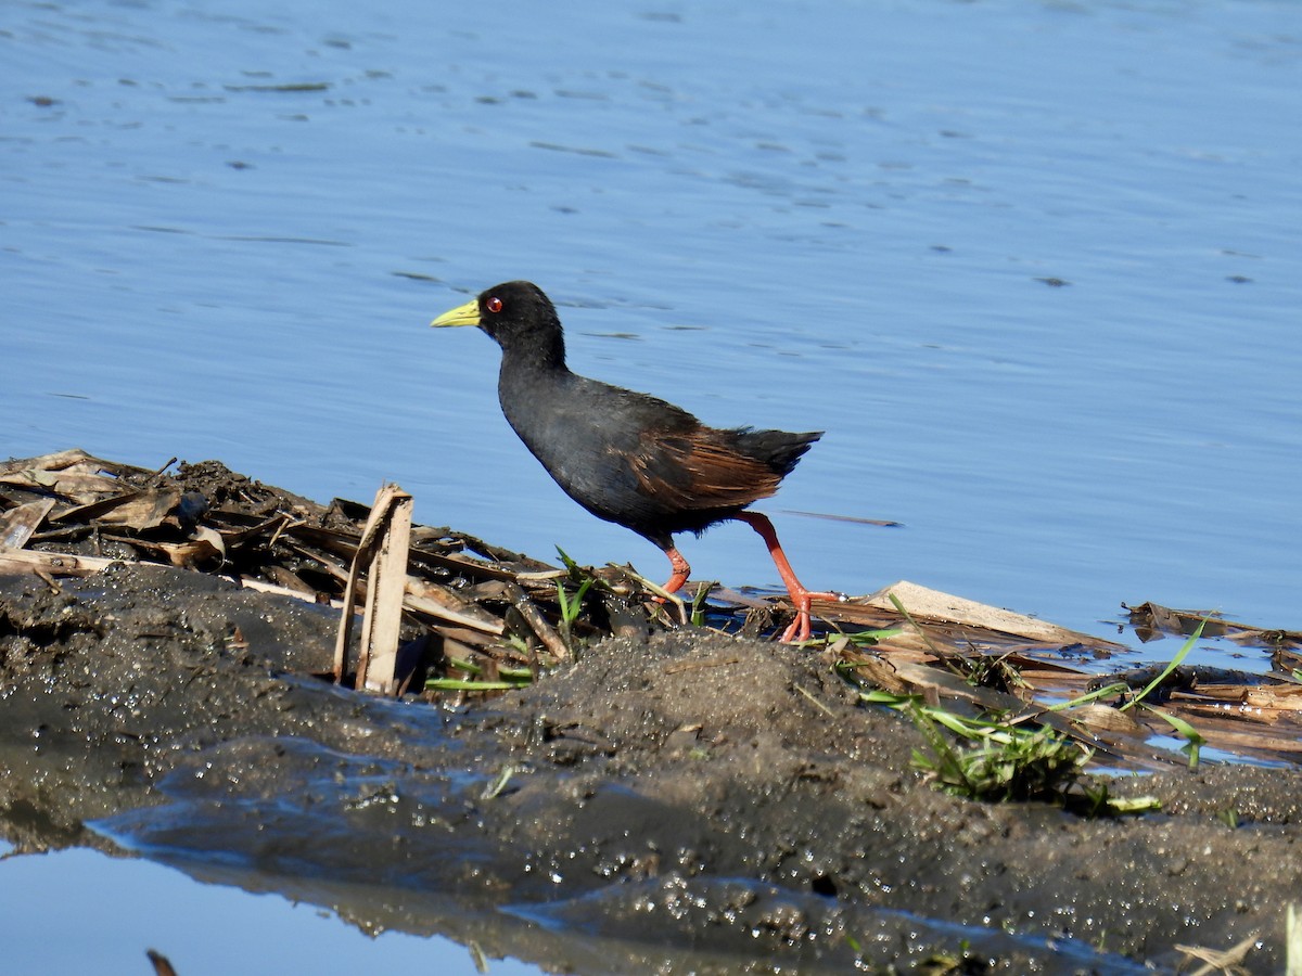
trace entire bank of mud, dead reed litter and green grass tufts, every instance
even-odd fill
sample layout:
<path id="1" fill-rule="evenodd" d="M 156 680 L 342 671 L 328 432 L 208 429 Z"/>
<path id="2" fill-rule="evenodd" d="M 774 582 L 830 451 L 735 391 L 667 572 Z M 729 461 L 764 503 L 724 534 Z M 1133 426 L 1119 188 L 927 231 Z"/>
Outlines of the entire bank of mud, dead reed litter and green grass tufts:
<path id="1" fill-rule="evenodd" d="M 783 645 L 750 634 L 781 604 L 414 527 L 392 699 L 320 679 L 368 515 L 216 462 L 0 465 L 4 837 L 574 972 L 1282 969 L 1295 634 L 1148 605 L 1272 670 L 1100 674 L 1065 661 L 1129 648 L 896 583 Z"/>

